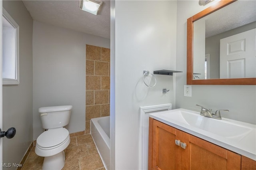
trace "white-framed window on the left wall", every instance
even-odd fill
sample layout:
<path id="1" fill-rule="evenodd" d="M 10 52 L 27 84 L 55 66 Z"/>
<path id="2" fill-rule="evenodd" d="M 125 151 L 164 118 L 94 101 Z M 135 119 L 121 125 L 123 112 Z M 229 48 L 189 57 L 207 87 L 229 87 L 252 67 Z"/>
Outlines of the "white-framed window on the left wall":
<path id="1" fill-rule="evenodd" d="M 19 84 L 19 26 L 3 8 L 3 85 Z"/>

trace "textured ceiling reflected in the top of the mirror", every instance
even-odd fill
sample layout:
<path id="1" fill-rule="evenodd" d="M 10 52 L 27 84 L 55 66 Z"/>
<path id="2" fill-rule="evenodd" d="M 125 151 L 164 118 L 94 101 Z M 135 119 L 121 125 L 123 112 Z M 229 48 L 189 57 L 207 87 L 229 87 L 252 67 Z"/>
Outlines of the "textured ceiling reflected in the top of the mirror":
<path id="1" fill-rule="evenodd" d="M 202 19 L 206 37 L 244 26 L 256 21 L 256 0 L 238 0 Z"/>

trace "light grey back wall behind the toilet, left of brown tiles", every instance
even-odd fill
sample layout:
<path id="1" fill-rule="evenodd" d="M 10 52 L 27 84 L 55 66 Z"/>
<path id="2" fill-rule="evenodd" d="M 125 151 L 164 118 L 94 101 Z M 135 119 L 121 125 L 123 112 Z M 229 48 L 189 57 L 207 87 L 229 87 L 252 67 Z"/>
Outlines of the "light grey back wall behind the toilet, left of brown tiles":
<path id="1" fill-rule="evenodd" d="M 72 105 L 70 133 L 85 130 L 85 46 L 110 47 L 110 40 L 34 21 L 33 128 L 43 131 L 38 108 Z"/>

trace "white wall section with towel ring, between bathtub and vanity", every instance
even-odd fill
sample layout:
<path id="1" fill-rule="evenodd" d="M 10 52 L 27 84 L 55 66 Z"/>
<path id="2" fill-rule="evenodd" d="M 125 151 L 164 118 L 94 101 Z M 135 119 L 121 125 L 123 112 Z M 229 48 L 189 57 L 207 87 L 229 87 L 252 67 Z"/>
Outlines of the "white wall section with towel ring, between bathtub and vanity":
<path id="1" fill-rule="evenodd" d="M 115 114 L 112 115 L 113 110 L 110 113 L 111 119 L 115 119 L 115 129 L 111 129 L 111 133 L 115 132 L 115 141 L 111 140 L 111 146 L 115 142 L 115 148 L 111 148 L 115 152 L 112 169 L 140 169 L 140 106 L 175 103 L 173 76 L 155 75 L 156 86 L 148 88 L 142 75 L 143 70 L 153 73 L 158 69 L 176 69 L 176 3 L 115 2 L 116 17 L 111 28 L 115 29 L 115 36 L 111 36 L 115 37 L 111 39 L 115 45 L 115 55 L 111 55 L 115 59 L 115 80 L 111 79 L 115 83 L 115 94 L 111 96 L 115 95 Z M 163 88 L 170 91 L 163 95 Z"/>

